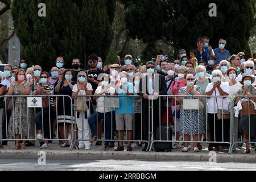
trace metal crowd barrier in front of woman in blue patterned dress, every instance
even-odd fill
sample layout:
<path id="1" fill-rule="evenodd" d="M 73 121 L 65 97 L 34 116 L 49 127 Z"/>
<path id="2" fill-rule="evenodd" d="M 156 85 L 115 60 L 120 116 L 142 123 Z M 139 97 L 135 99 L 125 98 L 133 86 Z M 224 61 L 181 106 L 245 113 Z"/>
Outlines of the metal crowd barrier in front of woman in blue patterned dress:
<path id="1" fill-rule="evenodd" d="M 154 114 L 156 114 L 156 110 L 154 109 L 154 105 L 158 105 L 156 104 L 156 102 L 159 102 L 159 111 L 161 111 L 163 108 L 163 97 L 167 98 L 166 99 L 166 105 L 167 108 L 169 106 L 169 102 L 170 102 L 170 98 L 174 99 L 174 101 L 176 101 L 178 98 L 182 98 L 179 99 L 180 104 L 180 113 L 178 113 L 176 110 L 172 110 L 172 113 L 168 113 L 169 110 L 167 109 L 167 129 L 170 127 L 169 124 L 169 117 L 171 116 L 171 114 L 174 117 L 174 137 L 171 137 L 171 139 L 169 139 L 169 133 L 166 131 L 166 135 L 165 138 L 167 139 L 162 139 L 163 137 L 161 136 L 161 132 L 159 132 L 159 136 L 156 136 L 154 134 L 154 130 L 151 130 L 151 145 L 150 145 L 150 150 L 152 150 L 152 147 L 154 145 L 154 143 L 156 142 L 183 142 L 183 143 L 209 143 L 211 146 L 217 147 L 217 145 L 221 145 L 221 146 L 225 146 L 226 144 L 229 145 L 229 151 L 231 150 L 232 147 L 232 117 L 229 117 L 229 119 L 224 119 L 224 114 L 225 114 L 225 110 L 228 109 L 229 110 L 229 115 L 232 116 L 233 111 L 232 111 L 232 102 L 228 102 L 228 96 L 158 96 L 159 99 L 158 100 L 153 100 L 153 102 L 155 102 L 152 106 L 151 106 L 151 114 L 152 114 L 152 118 L 154 118 Z M 213 106 L 208 106 L 207 101 L 205 102 L 206 104 L 204 104 L 204 108 L 202 106 L 203 102 L 201 102 L 200 100 L 202 98 L 205 98 L 205 100 L 208 100 L 210 98 L 213 98 L 214 100 L 218 99 L 221 100 L 221 105 L 218 105 L 218 108 L 221 110 L 222 113 L 222 119 L 218 120 L 217 117 L 217 113 L 216 113 L 216 109 L 217 109 L 217 105 L 215 104 L 216 102 L 214 101 Z M 230 98 L 229 98 L 230 100 Z M 176 102 L 172 102 L 174 104 L 172 104 L 172 108 L 177 108 L 176 107 Z M 227 105 L 227 108 L 222 107 L 223 105 Z M 201 105 L 201 108 L 200 108 Z M 212 111 L 209 111 L 209 107 L 210 110 L 212 109 L 211 107 L 213 107 L 213 113 Z M 203 111 L 205 109 L 205 118 L 203 118 Z M 212 114 L 208 114 L 208 113 L 212 113 Z M 214 114 L 215 113 L 215 114 Z M 179 115 L 180 114 L 180 115 Z M 178 116 L 179 115 L 179 116 Z M 208 117 L 208 115 L 210 116 L 210 119 Z M 151 129 L 154 128 L 154 126 L 160 127 L 162 126 L 162 114 L 159 114 L 159 119 L 156 122 L 151 122 Z M 179 119 L 178 119 L 179 118 Z M 202 120 L 204 119 L 204 121 Z M 180 120 L 180 121 L 179 121 Z M 208 123 L 209 122 L 209 123 Z M 205 127 L 204 127 L 204 123 L 205 123 Z M 180 124 L 180 126 L 179 126 Z M 203 126 L 202 126 L 203 125 Z M 210 140 L 207 139 L 201 140 L 203 134 L 204 136 L 208 136 L 208 125 L 209 125 L 209 130 L 210 132 Z M 178 127 L 179 129 L 176 129 L 176 127 Z M 221 127 L 221 130 L 220 130 Z M 230 127 L 230 133 L 228 134 L 227 132 L 228 129 L 227 127 Z M 206 131 L 204 132 L 204 128 L 206 129 Z M 226 131 L 224 131 L 226 130 Z M 156 128 L 155 128 L 156 131 Z M 180 140 L 179 138 L 179 133 L 181 133 L 180 135 L 182 135 L 182 140 Z M 227 139 L 227 135 L 229 135 L 229 138 Z M 158 139 L 156 139 L 158 138 Z M 186 139 L 185 139 L 186 138 Z"/>

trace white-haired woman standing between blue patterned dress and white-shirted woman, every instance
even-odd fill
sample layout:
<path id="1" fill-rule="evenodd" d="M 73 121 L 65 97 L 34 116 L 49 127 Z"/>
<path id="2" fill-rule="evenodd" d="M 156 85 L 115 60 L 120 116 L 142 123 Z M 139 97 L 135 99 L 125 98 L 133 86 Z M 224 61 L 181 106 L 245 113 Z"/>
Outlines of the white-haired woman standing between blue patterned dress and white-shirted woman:
<path id="1" fill-rule="evenodd" d="M 206 68 L 203 65 L 199 65 L 196 68 L 196 75 L 197 75 L 197 79 L 195 80 L 195 85 L 200 86 L 201 91 L 204 95 L 205 90 L 208 86 L 208 84 L 210 82 L 212 82 L 211 78 L 208 78 L 207 72 L 206 72 Z M 207 130 L 207 135 L 205 133 L 204 138 L 208 138 L 208 140 L 210 139 L 210 134 L 209 134 L 209 122 L 207 122 L 207 110 L 206 110 L 206 98 L 205 97 L 201 97 L 202 98 L 202 103 L 204 104 L 204 109 L 203 109 L 203 113 L 204 113 L 204 129 L 205 131 Z M 201 146 L 199 145 L 199 149 L 201 149 Z"/>

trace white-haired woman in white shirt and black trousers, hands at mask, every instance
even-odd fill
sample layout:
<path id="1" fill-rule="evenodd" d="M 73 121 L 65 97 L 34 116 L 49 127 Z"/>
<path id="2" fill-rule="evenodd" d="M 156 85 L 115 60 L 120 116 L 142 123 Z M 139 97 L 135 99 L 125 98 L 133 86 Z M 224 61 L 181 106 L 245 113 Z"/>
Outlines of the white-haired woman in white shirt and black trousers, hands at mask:
<path id="1" fill-rule="evenodd" d="M 230 108 L 228 105 L 228 99 L 224 97 L 214 97 L 229 95 L 228 84 L 222 82 L 221 77 L 221 71 L 218 69 L 214 70 L 212 72 L 213 82 L 209 83 L 205 90 L 206 96 L 213 96 L 209 97 L 207 100 L 208 122 L 211 142 L 228 142 L 229 139 L 229 119 L 224 119 L 223 123 L 222 119 L 218 121 L 218 110 L 229 110 Z M 224 133 L 224 140 L 222 140 L 222 133 Z M 224 153 L 224 146 L 225 144 L 223 143 L 210 143 L 208 150 L 213 150 L 212 147 L 214 147 L 215 151 L 219 151 L 219 153 Z"/>

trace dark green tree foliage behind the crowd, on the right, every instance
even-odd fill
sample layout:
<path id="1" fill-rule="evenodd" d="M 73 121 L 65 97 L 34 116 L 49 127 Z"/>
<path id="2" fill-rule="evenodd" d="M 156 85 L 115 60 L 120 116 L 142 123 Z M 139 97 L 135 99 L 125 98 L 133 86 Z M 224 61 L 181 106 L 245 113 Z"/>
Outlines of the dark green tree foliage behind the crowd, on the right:
<path id="1" fill-rule="evenodd" d="M 126 26 L 132 38 L 144 43 L 163 40 L 176 50 L 196 48 L 196 39 L 208 36 L 213 48 L 220 38 L 231 53 L 250 55 L 248 40 L 254 27 L 254 0 L 123 0 Z M 216 3 L 217 16 L 209 16 L 209 4 Z"/>

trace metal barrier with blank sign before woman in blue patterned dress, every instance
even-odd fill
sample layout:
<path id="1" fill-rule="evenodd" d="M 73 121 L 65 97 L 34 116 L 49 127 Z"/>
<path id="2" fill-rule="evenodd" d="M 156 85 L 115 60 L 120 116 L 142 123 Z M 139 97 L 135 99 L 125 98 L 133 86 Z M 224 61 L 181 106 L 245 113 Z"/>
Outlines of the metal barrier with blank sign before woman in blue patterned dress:
<path id="1" fill-rule="evenodd" d="M 166 97 L 167 98 L 167 106 L 168 106 L 168 104 L 169 104 L 169 98 L 174 98 L 174 100 L 176 100 L 176 98 L 180 98 L 180 97 L 183 97 L 183 98 L 185 98 L 185 97 L 187 97 L 187 98 L 189 98 L 189 97 L 195 97 L 196 99 L 190 99 L 190 100 L 187 100 L 186 101 L 186 109 L 185 110 L 190 110 L 190 125 L 191 125 L 191 123 L 192 123 L 192 110 L 197 110 L 198 111 L 198 113 L 200 113 L 200 108 L 199 108 L 199 98 L 205 98 L 206 100 L 207 100 L 207 98 L 210 98 L 210 97 L 214 97 L 214 98 L 222 98 L 222 105 L 223 105 L 223 102 L 224 102 L 224 99 L 223 98 L 229 98 L 229 97 L 227 97 L 227 96 L 159 96 L 159 98 L 161 98 L 161 97 Z M 230 98 L 229 98 L 230 99 Z M 184 101 L 184 100 L 183 100 Z M 156 100 L 155 102 L 159 102 L 159 110 L 161 110 L 161 99 L 159 99 L 159 100 Z M 206 103 L 207 103 L 207 101 L 206 101 Z M 215 102 L 214 102 L 214 104 L 215 104 Z M 181 105 L 183 105 L 183 104 L 181 104 Z M 228 105 L 229 105 L 229 112 L 230 112 L 230 116 L 231 115 L 233 115 L 232 113 L 233 113 L 233 111 L 232 111 L 232 108 L 233 107 L 231 107 L 230 106 L 230 103 L 228 102 Z M 214 105 L 213 107 L 217 107 L 217 105 Z M 175 102 L 175 105 L 174 105 L 174 107 L 176 107 L 176 102 Z M 207 104 L 205 104 L 204 105 L 204 107 L 205 107 L 205 109 L 206 109 L 206 113 L 208 113 L 208 105 Z M 219 106 L 220 107 L 220 106 Z M 184 107 L 183 107 L 184 108 Z M 175 115 L 177 114 L 176 113 L 176 110 L 175 111 L 173 111 L 172 110 L 172 112 L 174 113 L 174 115 L 173 115 L 173 117 L 174 117 L 174 138 L 172 138 L 171 140 L 169 140 L 169 133 L 167 132 L 167 140 L 162 140 L 162 136 L 161 136 L 161 132 L 159 132 L 159 134 L 160 134 L 160 136 L 156 136 L 156 135 L 154 135 L 154 130 L 152 131 L 151 130 L 151 144 L 150 144 L 150 149 L 149 149 L 149 151 L 151 151 L 152 150 L 152 147 L 154 146 L 154 143 L 156 143 L 156 142 L 175 142 L 175 143 L 177 143 L 177 142 L 187 142 L 187 143 L 220 143 L 220 144 L 229 144 L 229 151 L 231 150 L 231 147 L 232 147 L 232 130 L 230 130 L 230 133 L 229 133 L 229 140 L 228 141 L 225 141 L 224 140 L 224 125 L 226 124 L 226 123 L 224 123 L 224 119 L 223 119 L 223 117 L 222 117 L 222 120 L 221 121 L 217 121 L 217 118 L 215 117 L 215 114 L 214 114 L 214 123 L 213 123 L 213 125 L 214 125 L 214 139 L 210 139 L 210 140 L 208 140 L 208 138 L 207 138 L 207 140 L 206 141 L 203 141 L 203 140 L 201 140 L 201 135 L 202 134 L 200 134 L 199 133 L 199 126 L 200 126 L 200 115 L 198 114 L 198 119 L 197 119 L 197 122 L 198 122 L 198 133 L 197 133 L 197 135 L 198 135 L 198 140 L 192 140 L 191 138 L 193 138 L 193 136 L 192 136 L 192 131 L 191 131 L 191 133 L 190 133 L 190 140 L 184 140 L 184 122 L 183 122 L 183 134 L 181 134 L 182 136 L 183 136 L 183 139 L 182 140 L 180 140 L 179 138 L 176 138 L 176 134 L 177 134 L 177 132 L 179 132 L 179 131 L 176 131 L 176 124 L 177 124 L 177 121 L 176 121 L 176 117 L 175 117 Z M 223 108 L 222 108 L 222 113 L 223 113 Z M 152 118 L 153 118 L 153 115 L 155 114 L 155 112 L 154 112 L 154 107 L 152 107 L 152 111 L 151 111 L 151 114 L 152 114 Z M 223 115 L 222 115 L 223 116 Z M 161 123 L 161 121 L 162 121 L 162 119 L 160 118 L 160 117 L 162 117 L 162 115 L 159 115 L 159 125 L 158 126 L 162 126 L 162 123 Z M 168 109 L 167 109 L 167 128 L 168 127 L 170 127 L 170 125 L 169 125 L 169 123 L 168 123 L 168 121 L 169 121 L 169 117 L 170 117 L 170 113 L 168 113 Z M 183 112 L 183 118 L 185 117 L 185 115 L 184 115 L 184 112 Z M 205 131 L 205 134 L 204 135 L 206 135 L 206 136 L 208 136 L 208 114 L 206 114 L 206 118 L 204 118 L 205 119 L 205 123 L 206 123 L 206 131 Z M 232 127 L 232 117 L 230 117 L 230 119 L 229 119 L 229 121 L 230 121 L 230 123 L 229 123 L 229 127 Z M 216 140 L 216 135 L 217 135 L 217 133 L 216 133 L 216 123 L 217 122 L 221 122 L 221 125 L 222 125 L 222 139 L 221 140 Z M 218 123 L 217 123 L 218 124 Z M 153 122 L 151 122 L 151 125 L 152 125 L 152 128 L 153 128 Z M 192 129 L 191 129 L 192 130 Z M 159 138 L 159 140 L 156 140 L 155 138 L 156 137 L 158 137 Z"/>

